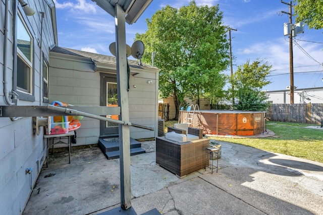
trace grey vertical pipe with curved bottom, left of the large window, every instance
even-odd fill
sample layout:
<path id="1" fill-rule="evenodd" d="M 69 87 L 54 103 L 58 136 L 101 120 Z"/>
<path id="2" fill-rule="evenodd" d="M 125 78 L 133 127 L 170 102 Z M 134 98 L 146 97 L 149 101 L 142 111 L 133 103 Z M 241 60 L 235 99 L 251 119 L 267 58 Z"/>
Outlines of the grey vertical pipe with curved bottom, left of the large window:
<path id="1" fill-rule="evenodd" d="M 7 47 L 8 47 L 8 13 L 9 13 L 9 0 L 6 0 L 5 3 L 5 39 L 4 39 L 4 74 L 3 74 L 3 83 L 4 83 L 4 96 L 5 101 L 8 105 L 16 105 L 9 99 L 9 91 L 8 91 L 8 82 L 7 82 Z M 17 97 L 17 94 L 13 91 L 11 93 L 12 96 Z M 17 100 L 18 103 L 18 100 Z"/>

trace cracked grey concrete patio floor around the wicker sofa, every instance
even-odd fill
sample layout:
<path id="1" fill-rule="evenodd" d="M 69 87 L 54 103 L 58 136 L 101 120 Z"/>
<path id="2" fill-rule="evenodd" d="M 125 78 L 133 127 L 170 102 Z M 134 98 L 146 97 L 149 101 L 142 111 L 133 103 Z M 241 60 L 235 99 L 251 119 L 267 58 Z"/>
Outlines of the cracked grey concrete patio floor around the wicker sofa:
<path id="1" fill-rule="evenodd" d="M 179 179 L 155 164 L 155 142 L 131 157 L 137 214 L 323 214 L 323 164 L 220 142 L 219 172 Z M 23 214 L 99 214 L 120 206 L 119 159 L 98 147 L 49 155 Z"/>

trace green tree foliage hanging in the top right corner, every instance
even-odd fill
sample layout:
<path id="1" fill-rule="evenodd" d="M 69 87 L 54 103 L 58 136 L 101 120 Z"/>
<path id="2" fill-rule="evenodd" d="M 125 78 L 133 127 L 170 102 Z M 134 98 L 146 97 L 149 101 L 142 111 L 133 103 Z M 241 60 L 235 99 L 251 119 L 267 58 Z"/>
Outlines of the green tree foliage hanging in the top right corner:
<path id="1" fill-rule="evenodd" d="M 323 28 L 323 1 L 294 0 L 296 22 L 304 21 L 308 28 Z"/>

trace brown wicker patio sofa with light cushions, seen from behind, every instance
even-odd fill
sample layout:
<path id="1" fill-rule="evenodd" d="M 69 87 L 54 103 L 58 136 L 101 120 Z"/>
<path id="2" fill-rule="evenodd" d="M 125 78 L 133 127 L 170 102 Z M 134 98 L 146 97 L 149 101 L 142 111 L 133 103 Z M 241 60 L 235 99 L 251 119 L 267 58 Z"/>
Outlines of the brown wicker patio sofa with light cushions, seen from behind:
<path id="1" fill-rule="evenodd" d="M 181 129 L 168 127 L 168 132 L 172 131 L 184 134 Z M 180 178 L 205 168 L 208 159 L 206 148 L 209 147 L 209 139 L 203 138 L 202 129 L 190 128 L 190 132 L 200 138 L 178 142 L 165 136 L 156 137 L 156 164 Z"/>

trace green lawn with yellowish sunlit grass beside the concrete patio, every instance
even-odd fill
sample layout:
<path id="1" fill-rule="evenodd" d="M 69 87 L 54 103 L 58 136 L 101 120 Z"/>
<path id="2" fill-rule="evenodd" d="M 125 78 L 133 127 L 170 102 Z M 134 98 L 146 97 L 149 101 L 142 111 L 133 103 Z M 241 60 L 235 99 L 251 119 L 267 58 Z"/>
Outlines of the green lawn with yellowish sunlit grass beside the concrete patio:
<path id="1" fill-rule="evenodd" d="M 177 121 L 165 122 L 165 127 L 173 126 Z M 233 142 L 260 150 L 281 153 L 323 163 L 323 130 L 304 128 L 318 126 L 313 124 L 267 122 L 267 129 L 277 137 L 263 138 L 224 138 L 211 139 Z"/>

